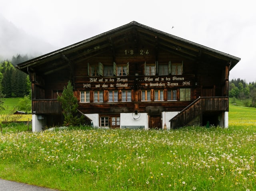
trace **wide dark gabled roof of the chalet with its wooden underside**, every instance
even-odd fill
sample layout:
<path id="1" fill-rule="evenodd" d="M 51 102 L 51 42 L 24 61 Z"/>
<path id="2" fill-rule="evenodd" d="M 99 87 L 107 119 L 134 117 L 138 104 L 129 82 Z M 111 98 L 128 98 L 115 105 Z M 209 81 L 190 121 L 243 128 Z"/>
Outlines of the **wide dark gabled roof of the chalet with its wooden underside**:
<path id="1" fill-rule="evenodd" d="M 148 44 L 154 44 L 156 48 L 161 46 L 161 48 L 170 51 L 170 53 L 187 57 L 188 59 L 200 59 L 200 57 L 219 59 L 226 64 L 231 63 L 230 69 L 240 61 L 238 57 L 133 21 L 84 41 L 20 63 L 16 67 L 26 73 L 28 73 L 29 68 L 30 71 L 48 75 L 70 67 L 73 62 L 79 59 L 88 59 L 110 49 L 112 50 L 113 59 L 115 59 L 114 50 L 130 41 L 144 41 Z"/>

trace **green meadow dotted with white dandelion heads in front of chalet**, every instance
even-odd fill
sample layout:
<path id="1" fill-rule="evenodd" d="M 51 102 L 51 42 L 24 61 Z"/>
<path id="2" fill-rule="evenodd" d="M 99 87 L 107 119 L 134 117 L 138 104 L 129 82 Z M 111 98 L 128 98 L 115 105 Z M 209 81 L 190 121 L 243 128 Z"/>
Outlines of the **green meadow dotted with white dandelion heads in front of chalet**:
<path id="1" fill-rule="evenodd" d="M 57 128 L 0 134 L 0 177 L 62 191 L 254 191 L 256 108 L 229 128 Z"/>

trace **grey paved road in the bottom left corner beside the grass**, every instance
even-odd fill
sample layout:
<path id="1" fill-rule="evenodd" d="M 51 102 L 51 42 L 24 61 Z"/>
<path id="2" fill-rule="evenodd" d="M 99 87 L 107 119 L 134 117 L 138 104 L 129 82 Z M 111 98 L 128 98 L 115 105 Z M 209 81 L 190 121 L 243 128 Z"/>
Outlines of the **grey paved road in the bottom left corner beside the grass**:
<path id="1" fill-rule="evenodd" d="M 54 190 L 0 179 L 0 191 L 54 191 Z"/>

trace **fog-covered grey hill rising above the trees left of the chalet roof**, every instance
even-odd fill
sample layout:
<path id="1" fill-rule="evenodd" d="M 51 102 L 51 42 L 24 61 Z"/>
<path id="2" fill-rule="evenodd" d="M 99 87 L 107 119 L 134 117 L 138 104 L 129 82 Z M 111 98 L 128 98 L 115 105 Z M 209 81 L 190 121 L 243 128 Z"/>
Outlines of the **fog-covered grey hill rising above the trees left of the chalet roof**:
<path id="1" fill-rule="evenodd" d="M 37 57 L 56 49 L 50 43 L 28 35 L 0 14 L 0 61 L 17 54 Z"/>

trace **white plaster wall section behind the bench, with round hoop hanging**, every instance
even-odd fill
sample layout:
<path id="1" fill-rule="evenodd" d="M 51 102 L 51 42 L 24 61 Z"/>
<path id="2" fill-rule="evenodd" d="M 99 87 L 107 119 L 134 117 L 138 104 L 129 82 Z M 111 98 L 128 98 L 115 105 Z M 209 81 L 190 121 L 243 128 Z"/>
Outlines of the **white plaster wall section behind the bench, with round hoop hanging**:
<path id="1" fill-rule="evenodd" d="M 134 119 L 133 117 L 138 119 Z M 133 113 L 132 116 L 132 113 L 120 113 L 120 128 L 122 125 L 145 126 L 145 129 L 148 129 L 148 114 L 138 113 L 135 115 Z"/>

